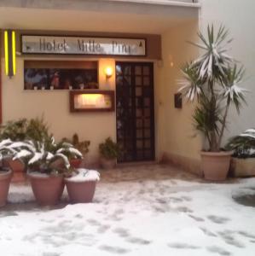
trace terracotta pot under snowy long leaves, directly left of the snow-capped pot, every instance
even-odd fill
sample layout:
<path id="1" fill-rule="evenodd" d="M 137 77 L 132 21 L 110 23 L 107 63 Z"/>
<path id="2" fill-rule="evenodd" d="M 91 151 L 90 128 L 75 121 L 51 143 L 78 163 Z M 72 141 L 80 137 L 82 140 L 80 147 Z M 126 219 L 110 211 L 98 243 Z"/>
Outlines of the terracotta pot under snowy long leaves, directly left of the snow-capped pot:
<path id="1" fill-rule="evenodd" d="M 54 206 L 60 201 L 65 186 L 61 175 L 41 176 L 29 173 L 28 177 L 32 185 L 32 192 L 39 205 Z"/>

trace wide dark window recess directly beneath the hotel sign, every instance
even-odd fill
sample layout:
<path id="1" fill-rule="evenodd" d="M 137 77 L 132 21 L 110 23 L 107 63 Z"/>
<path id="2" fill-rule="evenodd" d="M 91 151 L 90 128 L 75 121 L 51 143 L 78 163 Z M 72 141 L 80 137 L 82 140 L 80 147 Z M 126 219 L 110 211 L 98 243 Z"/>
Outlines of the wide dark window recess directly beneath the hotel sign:
<path id="1" fill-rule="evenodd" d="M 98 88 L 98 61 L 24 61 L 24 90 Z"/>

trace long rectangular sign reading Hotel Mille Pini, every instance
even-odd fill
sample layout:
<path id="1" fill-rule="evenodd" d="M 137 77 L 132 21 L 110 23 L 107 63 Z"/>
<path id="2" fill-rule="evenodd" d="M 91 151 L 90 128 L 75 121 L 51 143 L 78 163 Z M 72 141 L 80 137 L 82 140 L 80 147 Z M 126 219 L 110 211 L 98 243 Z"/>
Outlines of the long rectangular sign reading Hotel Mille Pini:
<path id="1" fill-rule="evenodd" d="M 23 54 L 145 56 L 144 38 L 84 38 L 21 35 Z"/>

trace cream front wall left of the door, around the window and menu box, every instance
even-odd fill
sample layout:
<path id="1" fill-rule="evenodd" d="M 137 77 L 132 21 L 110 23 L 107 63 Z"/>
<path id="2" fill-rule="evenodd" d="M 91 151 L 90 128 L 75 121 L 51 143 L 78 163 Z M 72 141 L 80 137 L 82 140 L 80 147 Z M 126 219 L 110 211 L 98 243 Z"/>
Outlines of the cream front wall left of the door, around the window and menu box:
<path id="1" fill-rule="evenodd" d="M 3 59 L 2 63 L 4 67 Z M 70 113 L 68 90 L 24 90 L 23 64 L 23 58 L 18 57 L 17 74 L 12 79 L 2 71 L 3 123 L 10 119 L 35 118 L 44 115 L 56 139 L 72 137 L 73 133 L 77 132 L 80 139 L 90 140 L 88 159 L 96 160 L 98 144 L 106 137 L 115 139 L 115 112 Z M 115 70 L 115 61 L 99 60 L 100 89 L 114 90 L 115 74 L 113 73 L 112 78 L 106 81 L 104 69 L 107 66 Z"/>

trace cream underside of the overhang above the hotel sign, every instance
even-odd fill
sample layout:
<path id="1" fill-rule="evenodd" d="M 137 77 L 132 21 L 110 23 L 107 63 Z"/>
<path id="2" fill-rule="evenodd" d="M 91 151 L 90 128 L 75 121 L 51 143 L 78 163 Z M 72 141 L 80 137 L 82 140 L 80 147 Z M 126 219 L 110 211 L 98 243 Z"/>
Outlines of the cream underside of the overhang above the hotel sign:
<path id="1" fill-rule="evenodd" d="M 159 13 L 79 11 L 0 7 L 0 28 L 84 32 L 162 33 L 171 26 L 198 18 L 197 9 Z"/>

